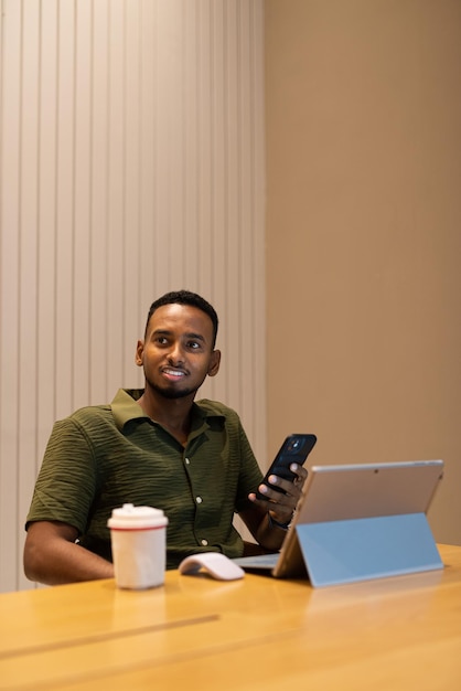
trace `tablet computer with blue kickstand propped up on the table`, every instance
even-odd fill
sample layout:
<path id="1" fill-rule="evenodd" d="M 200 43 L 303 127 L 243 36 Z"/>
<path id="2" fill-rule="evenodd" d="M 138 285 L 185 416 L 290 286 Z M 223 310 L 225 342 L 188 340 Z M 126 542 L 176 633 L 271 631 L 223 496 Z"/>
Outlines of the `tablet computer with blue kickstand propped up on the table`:
<path id="1" fill-rule="evenodd" d="M 236 560 L 330 585 L 441 568 L 427 511 L 442 460 L 313 466 L 277 554 Z"/>

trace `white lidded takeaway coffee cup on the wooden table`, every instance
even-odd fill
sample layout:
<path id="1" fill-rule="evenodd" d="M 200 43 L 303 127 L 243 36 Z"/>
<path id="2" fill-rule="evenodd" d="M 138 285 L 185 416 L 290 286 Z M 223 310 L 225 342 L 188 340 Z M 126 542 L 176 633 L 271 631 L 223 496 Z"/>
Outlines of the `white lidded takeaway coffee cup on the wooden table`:
<path id="1" fill-rule="evenodd" d="M 117 586 L 143 589 L 162 585 L 168 525 L 163 511 L 125 503 L 114 509 L 107 525 Z"/>

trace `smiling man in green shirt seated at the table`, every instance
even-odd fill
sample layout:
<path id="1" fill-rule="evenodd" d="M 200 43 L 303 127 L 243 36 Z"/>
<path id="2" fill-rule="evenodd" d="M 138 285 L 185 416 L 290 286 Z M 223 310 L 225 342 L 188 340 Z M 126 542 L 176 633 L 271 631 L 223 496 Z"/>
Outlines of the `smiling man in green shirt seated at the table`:
<path id="1" fill-rule="evenodd" d="M 217 327 L 201 296 L 164 295 L 152 304 L 136 349 L 144 389 L 119 390 L 110 405 L 55 423 L 26 519 L 29 578 L 53 585 L 112 577 L 107 520 L 126 502 L 167 514 L 168 568 L 201 551 L 242 556 L 235 512 L 264 549 L 281 546 L 307 471 L 292 467 L 294 482 L 271 476 L 286 493 L 261 485 L 237 414 L 194 402 L 219 369 Z"/>

